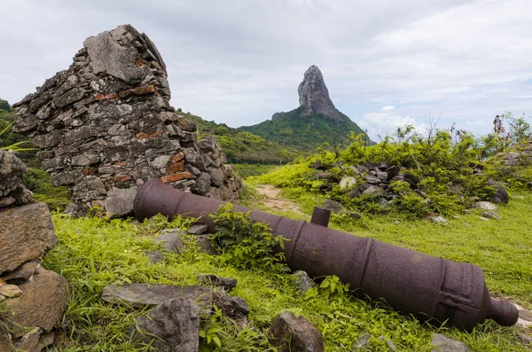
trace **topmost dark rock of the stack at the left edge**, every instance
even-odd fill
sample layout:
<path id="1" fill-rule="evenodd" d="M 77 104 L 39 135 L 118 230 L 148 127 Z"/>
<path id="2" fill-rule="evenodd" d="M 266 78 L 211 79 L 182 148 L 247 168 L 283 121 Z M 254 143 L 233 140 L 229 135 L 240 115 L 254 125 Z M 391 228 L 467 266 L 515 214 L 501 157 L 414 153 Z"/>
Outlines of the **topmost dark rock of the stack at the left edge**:
<path id="1" fill-rule="evenodd" d="M 25 172 L 27 168 L 14 153 L 0 149 L 0 208 L 35 202 L 32 192 L 22 183 Z"/>

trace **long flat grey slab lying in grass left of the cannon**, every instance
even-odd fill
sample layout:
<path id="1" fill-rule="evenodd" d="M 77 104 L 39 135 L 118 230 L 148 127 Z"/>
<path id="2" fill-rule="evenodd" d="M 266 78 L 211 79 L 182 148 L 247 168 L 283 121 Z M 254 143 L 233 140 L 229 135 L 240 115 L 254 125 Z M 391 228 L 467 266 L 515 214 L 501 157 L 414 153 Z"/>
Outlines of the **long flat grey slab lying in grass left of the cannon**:
<path id="1" fill-rule="evenodd" d="M 213 291 L 205 286 L 126 284 L 107 285 L 102 292 L 102 300 L 125 303 L 134 308 L 158 306 L 176 297 L 191 299 L 200 307 L 208 307 L 212 305 Z"/>

